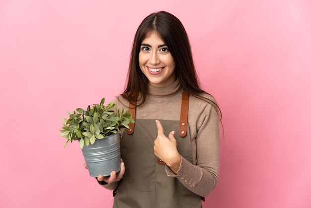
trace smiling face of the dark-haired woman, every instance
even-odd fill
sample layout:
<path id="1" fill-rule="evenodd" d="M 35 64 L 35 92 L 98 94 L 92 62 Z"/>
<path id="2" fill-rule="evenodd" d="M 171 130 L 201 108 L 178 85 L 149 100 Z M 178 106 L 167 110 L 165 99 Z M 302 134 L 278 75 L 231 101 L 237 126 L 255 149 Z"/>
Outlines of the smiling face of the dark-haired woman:
<path id="1" fill-rule="evenodd" d="M 152 86 L 165 87 L 176 80 L 175 61 L 156 32 L 142 41 L 138 62 Z"/>

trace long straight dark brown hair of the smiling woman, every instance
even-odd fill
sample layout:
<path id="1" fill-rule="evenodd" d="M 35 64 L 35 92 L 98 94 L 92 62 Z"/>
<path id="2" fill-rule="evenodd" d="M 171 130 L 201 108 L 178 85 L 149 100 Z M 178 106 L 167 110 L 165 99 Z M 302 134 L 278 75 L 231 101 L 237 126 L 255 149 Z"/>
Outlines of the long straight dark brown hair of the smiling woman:
<path id="1" fill-rule="evenodd" d="M 177 17 L 166 11 L 150 14 L 139 25 L 134 37 L 126 87 L 121 95 L 130 102 L 136 100 L 137 95 L 140 95 L 141 102 L 138 105 L 145 102 L 148 79 L 139 67 L 138 55 L 142 41 L 153 31 L 156 31 L 162 38 L 174 58 L 175 76 L 180 81 L 181 89 L 212 104 L 221 118 L 218 105 L 213 100 L 202 97 L 203 93 L 208 93 L 199 86 L 189 39 L 184 26 Z"/>

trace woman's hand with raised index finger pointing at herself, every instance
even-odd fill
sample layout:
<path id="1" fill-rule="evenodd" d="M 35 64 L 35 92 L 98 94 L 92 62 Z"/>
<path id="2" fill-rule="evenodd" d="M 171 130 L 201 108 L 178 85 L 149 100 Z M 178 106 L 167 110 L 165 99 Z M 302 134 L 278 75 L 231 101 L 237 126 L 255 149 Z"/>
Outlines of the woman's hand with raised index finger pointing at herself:
<path id="1" fill-rule="evenodd" d="M 177 150 L 177 141 L 174 137 L 174 131 L 164 135 L 163 127 L 160 121 L 156 120 L 157 137 L 154 142 L 155 155 L 168 165 L 177 175 L 180 167 L 181 156 Z"/>

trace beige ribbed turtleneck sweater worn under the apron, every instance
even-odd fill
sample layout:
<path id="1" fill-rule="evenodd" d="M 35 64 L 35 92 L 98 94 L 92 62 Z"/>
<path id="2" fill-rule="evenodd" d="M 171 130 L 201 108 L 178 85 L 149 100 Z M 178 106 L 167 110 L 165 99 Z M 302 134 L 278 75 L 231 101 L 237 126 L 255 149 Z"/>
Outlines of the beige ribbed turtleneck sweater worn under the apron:
<path id="1" fill-rule="evenodd" d="M 207 94 L 203 96 L 213 100 Z M 179 120 L 181 98 L 182 90 L 178 80 L 163 88 L 149 85 L 145 103 L 136 108 L 136 119 Z M 116 103 L 119 109 L 128 109 L 129 102 L 122 96 L 116 97 L 112 102 Z M 169 167 L 166 167 L 166 173 L 168 177 L 177 177 L 180 183 L 193 193 L 205 197 L 213 191 L 218 179 L 218 113 L 211 104 L 190 95 L 188 125 L 193 164 L 182 157 L 178 175 Z M 106 184 L 103 187 L 113 190 L 117 183 Z"/>

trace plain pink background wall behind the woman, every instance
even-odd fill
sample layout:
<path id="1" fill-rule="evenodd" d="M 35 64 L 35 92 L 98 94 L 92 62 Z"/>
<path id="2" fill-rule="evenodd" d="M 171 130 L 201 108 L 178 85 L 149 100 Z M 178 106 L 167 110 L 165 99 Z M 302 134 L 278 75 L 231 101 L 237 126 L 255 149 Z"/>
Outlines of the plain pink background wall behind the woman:
<path id="1" fill-rule="evenodd" d="M 78 143 L 63 149 L 61 117 L 122 92 L 134 33 L 158 10 L 183 22 L 223 113 L 203 207 L 311 207 L 310 0 L 1 0 L 1 208 L 112 206 Z"/>

